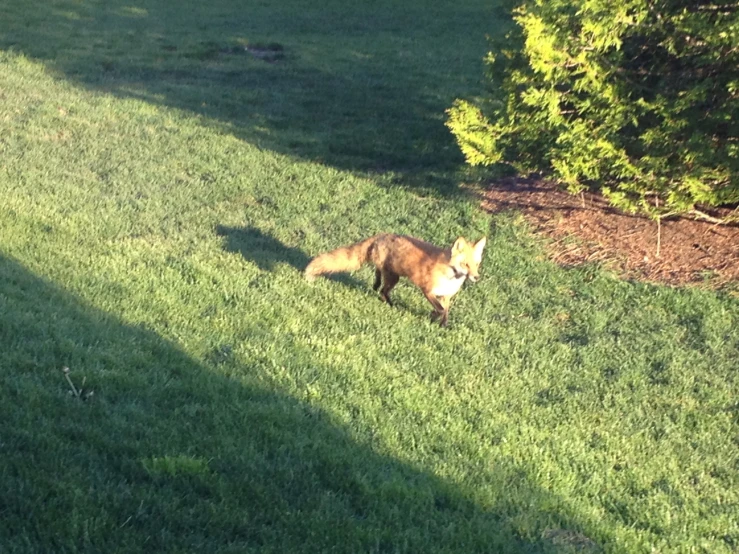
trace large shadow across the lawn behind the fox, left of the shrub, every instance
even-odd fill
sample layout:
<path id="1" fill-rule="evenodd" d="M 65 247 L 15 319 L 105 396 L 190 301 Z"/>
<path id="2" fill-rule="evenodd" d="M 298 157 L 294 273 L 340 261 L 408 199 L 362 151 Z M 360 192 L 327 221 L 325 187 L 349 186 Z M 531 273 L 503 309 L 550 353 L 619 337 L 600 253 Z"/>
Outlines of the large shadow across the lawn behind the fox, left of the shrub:
<path id="1" fill-rule="evenodd" d="M 266 149 L 389 171 L 394 177 L 383 182 L 442 194 L 457 192 L 463 162 L 444 111 L 479 80 L 459 68 L 479 64 L 495 22 L 479 8 L 455 8 L 454 33 L 451 20 L 421 4 L 393 13 L 289 2 L 6 3 L 0 49 L 42 60 L 73 82 L 205 116 Z M 288 44 L 265 61 L 238 46 L 255 37 Z"/>

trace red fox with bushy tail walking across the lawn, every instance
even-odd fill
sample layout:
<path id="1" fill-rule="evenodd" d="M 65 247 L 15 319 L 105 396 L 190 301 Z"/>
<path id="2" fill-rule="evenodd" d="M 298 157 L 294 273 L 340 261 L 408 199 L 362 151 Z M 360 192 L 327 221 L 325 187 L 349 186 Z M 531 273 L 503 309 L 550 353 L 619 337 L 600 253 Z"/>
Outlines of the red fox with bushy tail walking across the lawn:
<path id="1" fill-rule="evenodd" d="M 375 290 L 392 306 L 390 291 L 401 277 L 408 277 L 431 302 L 432 319 L 446 326 L 449 303 L 465 279 L 480 278 L 479 267 L 485 237 L 475 244 L 459 237 L 451 248 L 439 248 L 428 242 L 403 235 L 381 234 L 316 256 L 305 268 L 305 277 L 354 271 L 371 262 L 375 266 Z"/>

